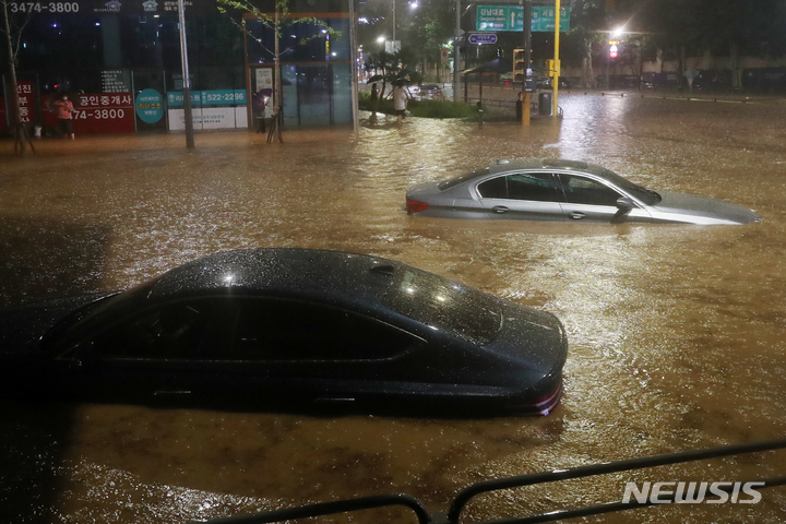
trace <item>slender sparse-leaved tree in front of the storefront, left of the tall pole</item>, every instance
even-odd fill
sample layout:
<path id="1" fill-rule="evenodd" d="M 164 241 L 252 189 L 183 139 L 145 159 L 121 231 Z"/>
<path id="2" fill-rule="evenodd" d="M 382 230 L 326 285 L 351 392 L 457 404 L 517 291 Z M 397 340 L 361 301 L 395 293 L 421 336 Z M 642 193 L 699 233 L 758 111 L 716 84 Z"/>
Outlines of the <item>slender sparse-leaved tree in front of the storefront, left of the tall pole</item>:
<path id="1" fill-rule="evenodd" d="M 2 1 L 2 0 L 0 0 Z M 288 26 L 295 25 L 295 24 L 312 24 L 319 28 L 310 38 L 305 38 L 298 41 L 298 45 L 302 45 L 308 43 L 309 40 L 317 38 L 321 36 L 322 34 L 327 34 L 330 36 L 341 36 L 341 32 L 337 32 L 330 27 L 326 23 L 323 21 L 313 17 L 313 16 L 300 16 L 300 17 L 293 17 L 289 13 L 289 0 L 274 0 L 272 3 L 273 5 L 273 13 L 271 15 L 270 12 L 263 12 L 260 7 L 258 7 L 257 3 L 261 4 L 267 4 L 270 5 L 271 2 L 257 2 L 253 0 L 218 0 L 218 12 L 222 14 L 225 14 L 229 16 L 229 19 L 233 21 L 233 23 L 242 31 L 243 35 L 247 35 L 247 37 L 251 37 L 254 40 L 257 40 L 260 45 L 262 44 L 261 38 L 253 36 L 251 33 L 249 33 L 246 27 L 246 19 L 243 17 L 243 13 L 250 13 L 253 15 L 254 19 L 262 22 L 262 24 L 273 31 L 273 38 L 275 40 L 275 48 L 271 52 L 269 49 L 266 49 L 274 59 L 274 69 L 275 69 L 275 84 L 273 87 L 273 124 L 271 126 L 270 133 L 267 134 L 267 143 L 272 142 L 275 138 L 278 142 L 283 142 L 283 138 L 281 135 L 281 109 L 282 109 L 282 88 L 281 88 L 281 37 L 282 37 L 282 31 Z M 229 10 L 233 11 L 233 13 L 229 12 Z M 239 20 L 238 20 L 239 17 Z M 264 46 L 263 46 L 264 47 Z"/>

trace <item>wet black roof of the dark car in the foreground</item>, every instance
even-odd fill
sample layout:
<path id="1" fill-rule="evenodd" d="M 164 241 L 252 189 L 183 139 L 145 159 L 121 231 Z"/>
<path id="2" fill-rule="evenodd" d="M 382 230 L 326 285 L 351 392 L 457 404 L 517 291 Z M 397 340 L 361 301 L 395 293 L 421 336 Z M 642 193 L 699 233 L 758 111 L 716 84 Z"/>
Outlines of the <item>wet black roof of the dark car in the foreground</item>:
<path id="1" fill-rule="evenodd" d="M 346 299 L 379 299 L 402 262 L 342 251 L 299 248 L 225 251 L 176 267 L 152 286 L 146 298 L 199 295 L 210 291 L 331 295 Z"/>

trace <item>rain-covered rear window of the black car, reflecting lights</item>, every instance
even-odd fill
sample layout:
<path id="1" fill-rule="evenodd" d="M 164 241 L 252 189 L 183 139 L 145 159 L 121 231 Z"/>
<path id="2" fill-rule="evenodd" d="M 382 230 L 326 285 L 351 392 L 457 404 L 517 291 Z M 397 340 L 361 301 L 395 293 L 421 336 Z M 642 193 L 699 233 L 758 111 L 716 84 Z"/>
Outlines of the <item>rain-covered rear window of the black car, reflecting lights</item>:
<path id="1" fill-rule="evenodd" d="M 414 267 L 396 273 L 383 301 L 397 313 L 480 346 L 502 326 L 499 299 Z"/>

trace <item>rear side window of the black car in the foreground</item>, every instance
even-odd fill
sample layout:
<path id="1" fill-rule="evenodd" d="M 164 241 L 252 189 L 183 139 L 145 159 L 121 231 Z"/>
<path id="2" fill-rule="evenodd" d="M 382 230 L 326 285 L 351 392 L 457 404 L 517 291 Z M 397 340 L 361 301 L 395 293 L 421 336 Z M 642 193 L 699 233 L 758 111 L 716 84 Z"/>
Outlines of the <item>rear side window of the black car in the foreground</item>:
<path id="1" fill-rule="evenodd" d="M 401 355 L 422 340 L 384 322 L 302 300 L 240 302 L 226 358 L 234 360 L 377 360 Z"/>

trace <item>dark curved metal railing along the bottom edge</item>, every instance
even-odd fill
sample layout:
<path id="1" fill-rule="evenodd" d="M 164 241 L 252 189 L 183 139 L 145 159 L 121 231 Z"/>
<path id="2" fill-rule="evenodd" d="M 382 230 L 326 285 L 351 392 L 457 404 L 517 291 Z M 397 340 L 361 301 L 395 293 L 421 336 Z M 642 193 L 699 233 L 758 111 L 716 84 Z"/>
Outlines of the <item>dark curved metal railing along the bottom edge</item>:
<path id="1" fill-rule="evenodd" d="M 646 456 L 641 458 L 629 458 L 624 461 L 608 462 L 602 464 L 593 464 L 587 466 L 572 467 L 568 469 L 555 469 L 550 472 L 540 472 L 529 475 L 520 475 L 515 477 L 499 478 L 495 480 L 486 480 L 474 484 L 462 490 L 454 499 L 446 514 L 433 513 L 429 514 L 425 505 L 414 497 L 407 495 L 380 495 L 376 497 L 364 497 L 359 499 L 338 500 L 335 502 L 324 502 L 319 504 L 305 505 L 301 508 L 293 508 L 286 510 L 277 510 L 253 515 L 233 516 L 228 519 L 207 521 L 207 524 L 261 524 L 282 522 L 294 519 L 306 519 L 313 516 L 322 516 L 329 514 L 346 513 L 353 511 L 369 510 L 373 508 L 384 508 L 393 505 L 403 505 L 413 510 L 417 516 L 419 524 L 457 524 L 462 511 L 466 504 L 476 496 L 497 491 L 501 489 L 520 488 L 524 486 L 534 486 L 560 480 L 574 478 L 593 477 L 597 475 L 607 475 L 611 473 L 622 473 L 648 467 L 665 466 L 670 464 L 681 464 L 686 462 L 703 461 L 708 458 L 717 458 L 723 456 L 739 455 L 743 453 L 754 453 L 763 451 L 774 451 L 786 448 L 786 438 L 752 442 L 747 444 L 724 445 L 719 448 L 711 448 L 698 451 L 683 451 L 679 453 L 668 453 L 663 455 Z M 786 476 L 754 479 L 750 481 L 761 483 L 757 489 L 772 488 L 775 486 L 786 485 Z M 730 491 L 731 487 L 719 488 L 724 491 Z M 605 504 L 588 505 L 584 508 L 551 511 L 536 515 L 511 517 L 503 520 L 489 521 L 483 524 L 535 524 L 540 522 L 563 521 L 567 519 L 575 519 L 579 516 L 599 515 L 604 513 L 632 510 L 654 505 L 656 503 L 674 503 L 675 495 L 669 498 L 668 493 L 660 493 L 657 501 L 650 500 L 628 502 L 609 502 Z"/>

